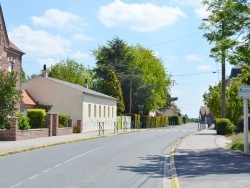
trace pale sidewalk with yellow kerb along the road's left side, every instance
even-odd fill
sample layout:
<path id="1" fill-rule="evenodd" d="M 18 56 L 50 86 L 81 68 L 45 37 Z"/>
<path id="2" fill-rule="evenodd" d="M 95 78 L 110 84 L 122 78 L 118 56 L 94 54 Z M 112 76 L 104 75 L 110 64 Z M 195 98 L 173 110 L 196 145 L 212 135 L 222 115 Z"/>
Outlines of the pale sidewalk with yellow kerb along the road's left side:
<path id="1" fill-rule="evenodd" d="M 132 129 L 132 130 L 127 129 L 127 131 L 118 130 L 118 133 L 116 134 L 124 134 L 137 131 L 138 131 L 137 129 Z M 20 153 L 24 151 L 30 151 L 39 148 L 59 145 L 59 144 L 66 144 L 66 143 L 99 138 L 104 136 L 112 136 L 116 134 L 114 134 L 114 130 L 105 130 L 104 135 L 101 132 L 100 136 L 99 136 L 99 131 L 90 131 L 83 133 L 73 133 L 64 136 L 42 137 L 31 140 L 0 141 L 0 157 L 14 153 Z"/>

